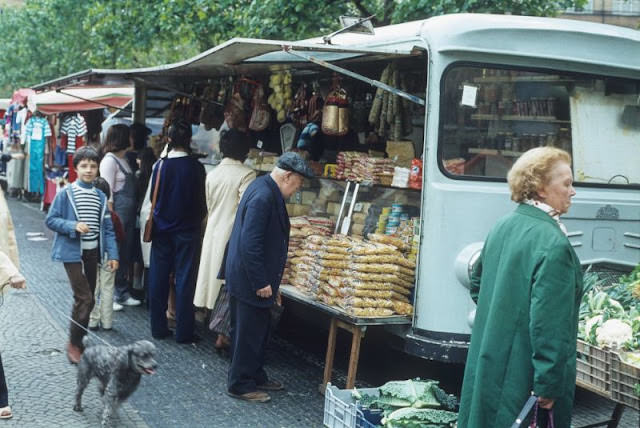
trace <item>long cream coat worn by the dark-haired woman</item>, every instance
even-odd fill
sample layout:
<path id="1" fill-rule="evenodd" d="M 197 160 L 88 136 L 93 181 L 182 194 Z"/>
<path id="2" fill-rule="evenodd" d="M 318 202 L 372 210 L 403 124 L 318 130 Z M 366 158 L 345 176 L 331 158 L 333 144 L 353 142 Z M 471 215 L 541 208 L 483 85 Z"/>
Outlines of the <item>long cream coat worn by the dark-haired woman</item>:
<path id="1" fill-rule="evenodd" d="M 218 271 L 224 256 L 236 210 L 242 194 L 256 178 L 252 169 L 240 161 L 224 158 L 222 162 L 207 174 L 207 228 L 204 232 L 202 255 L 196 294 L 193 304 L 198 307 L 213 309 L 218 292 L 224 281 L 217 279 Z"/>

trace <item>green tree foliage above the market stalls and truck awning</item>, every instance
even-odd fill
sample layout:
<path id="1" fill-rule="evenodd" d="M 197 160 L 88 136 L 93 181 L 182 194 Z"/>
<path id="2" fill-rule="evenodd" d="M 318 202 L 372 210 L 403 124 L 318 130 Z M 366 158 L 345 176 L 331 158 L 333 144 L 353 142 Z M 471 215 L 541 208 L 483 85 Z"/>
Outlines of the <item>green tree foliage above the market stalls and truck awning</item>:
<path id="1" fill-rule="evenodd" d="M 87 68 L 176 62 L 232 37 L 295 40 L 339 28 L 340 15 L 375 25 L 445 13 L 554 15 L 585 0 L 27 0 L 0 13 L 0 91 Z"/>

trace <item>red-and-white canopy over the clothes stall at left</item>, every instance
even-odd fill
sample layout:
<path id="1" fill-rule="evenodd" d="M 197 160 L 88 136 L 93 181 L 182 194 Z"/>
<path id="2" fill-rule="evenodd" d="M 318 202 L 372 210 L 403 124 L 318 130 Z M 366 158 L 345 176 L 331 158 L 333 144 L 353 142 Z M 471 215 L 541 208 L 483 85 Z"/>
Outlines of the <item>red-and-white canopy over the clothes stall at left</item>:
<path id="1" fill-rule="evenodd" d="M 133 87 L 66 88 L 41 92 L 31 98 L 40 112 L 55 114 L 106 107 L 123 108 L 131 102 L 133 93 Z"/>

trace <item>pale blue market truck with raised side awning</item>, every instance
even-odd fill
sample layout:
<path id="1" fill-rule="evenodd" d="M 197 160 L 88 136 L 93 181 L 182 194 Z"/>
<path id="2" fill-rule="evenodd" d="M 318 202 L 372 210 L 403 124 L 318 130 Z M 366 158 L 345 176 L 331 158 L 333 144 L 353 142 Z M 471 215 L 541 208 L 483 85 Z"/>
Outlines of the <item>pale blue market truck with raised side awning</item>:
<path id="1" fill-rule="evenodd" d="M 556 146 L 572 155 L 577 194 L 563 222 L 583 265 L 615 274 L 640 262 L 638 31 L 553 18 L 460 14 L 373 33 L 291 42 L 237 38 L 181 63 L 87 70 L 36 89 L 129 82 L 136 86 L 134 119 L 140 122 L 149 110 L 158 110 L 161 94 L 188 104 L 202 93 L 198 85 L 220 79 L 267 82 L 284 73 L 290 77 L 278 80 L 289 79 L 294 90 L 306 82 L 325 95 L 340 82 L 348 90 L 350 127 L 360 143 L 373 126 L 388 140 L 411 141 L 413 156 L 423 161 L 421 190 L 361 185 L 352 204 L 404 204 L 411 208 L 407 215 L 418 219 L 411 322 L 385 327 L 414 355 L 464 361 L 475 309 L 469 273 L 492 225 L 515 208 L 505 177 L 532 147 Z M 389 64 L 400 78 L 384 79 Z M 400 118 L 401 129 L 394 128 L 398 122 L 380 124 L 375 117 L 367 125 L 376 95 L 385 92 L 408 113 Z M 286 134 L 281 130 L 283 145 L 292 144 Z M 265 165 L 273 163 L 260 167 L 268 169 Z M 313 181 L 324 184 L 307 183 L 305 191 L 316 193 L 303 191 L 289 201 L 293 215 L 339 215 L 340 200 L 352 200 L 345 182 Z M 323 200 L 325 188 L 338 189 L 342 197 Z M 361 233 L 354 224 L 366 213 L 354 214 L 344 202 L 341 207 L 353 223 L 350 233 Z"/>

